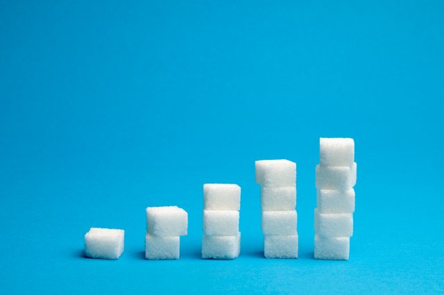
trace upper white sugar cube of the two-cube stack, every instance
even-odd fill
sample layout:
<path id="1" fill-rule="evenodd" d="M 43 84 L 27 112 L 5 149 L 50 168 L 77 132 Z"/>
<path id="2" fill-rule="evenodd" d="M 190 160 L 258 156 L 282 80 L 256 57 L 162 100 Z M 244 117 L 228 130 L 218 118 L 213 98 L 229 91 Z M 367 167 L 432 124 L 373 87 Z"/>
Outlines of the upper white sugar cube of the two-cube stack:
<path id="1" fill-rule="evenodd" d="M 187 235 L 188 214 L 178 206 L 146 208 L 146 229 L 151 235 Z"/>

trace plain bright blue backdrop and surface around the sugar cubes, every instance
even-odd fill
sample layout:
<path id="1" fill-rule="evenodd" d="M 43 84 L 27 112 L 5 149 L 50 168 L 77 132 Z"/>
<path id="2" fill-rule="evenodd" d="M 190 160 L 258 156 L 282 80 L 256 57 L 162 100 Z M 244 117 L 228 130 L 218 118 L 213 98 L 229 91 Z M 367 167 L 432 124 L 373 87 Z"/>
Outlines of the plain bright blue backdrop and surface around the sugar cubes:
<path id="1" fill-rule="evenodd" d="M 140 2 L 0 3 L 3 294 L 444 292 L 441 1 Z M 320 136 L 355 138 L 346 262 L 313 260 Z M 258 159 L 298 163 L 298 260 L 262 256 Z M 211 182 L 242 187 L 237 260 L 200 260 Z M 181 258 L 144 260 L 164 205 Z"/>

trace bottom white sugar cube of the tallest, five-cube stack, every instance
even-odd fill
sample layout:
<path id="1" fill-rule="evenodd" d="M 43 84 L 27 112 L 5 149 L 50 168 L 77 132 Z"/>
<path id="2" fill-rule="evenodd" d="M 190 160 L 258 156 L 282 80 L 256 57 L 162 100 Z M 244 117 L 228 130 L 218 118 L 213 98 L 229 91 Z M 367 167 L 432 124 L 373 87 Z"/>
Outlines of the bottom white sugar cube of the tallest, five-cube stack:
<path id="1" fill-rule="evenodd" d="M 314 237 L 314 259 L 348 260 L 350 254 L 350 238 Z"/>

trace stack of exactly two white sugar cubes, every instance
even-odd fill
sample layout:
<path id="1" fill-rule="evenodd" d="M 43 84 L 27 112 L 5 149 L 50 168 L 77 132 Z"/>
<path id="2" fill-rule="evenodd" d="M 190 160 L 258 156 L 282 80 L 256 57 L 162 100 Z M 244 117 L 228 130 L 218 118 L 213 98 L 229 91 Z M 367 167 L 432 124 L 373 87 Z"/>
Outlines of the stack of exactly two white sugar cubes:
<path id="1" fill-rule="evenodd" d="M 187 235 L 188 214 L 178 206 L 146 208 L 145 258 L 179 259 L 180 235 Z"/>

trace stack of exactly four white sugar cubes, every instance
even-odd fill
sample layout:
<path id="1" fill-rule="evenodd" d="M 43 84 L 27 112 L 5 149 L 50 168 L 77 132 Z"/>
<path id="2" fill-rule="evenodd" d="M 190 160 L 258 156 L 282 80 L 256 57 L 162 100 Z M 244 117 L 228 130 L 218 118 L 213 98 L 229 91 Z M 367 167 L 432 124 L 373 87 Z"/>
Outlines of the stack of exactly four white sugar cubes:
<path id="1" fill-rule="evenodd" d="M 298 258 L 296 163 L 256 161 L 256 183 L 261 185 L 262 233 L 266 258 Z"/>

